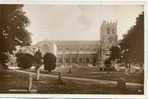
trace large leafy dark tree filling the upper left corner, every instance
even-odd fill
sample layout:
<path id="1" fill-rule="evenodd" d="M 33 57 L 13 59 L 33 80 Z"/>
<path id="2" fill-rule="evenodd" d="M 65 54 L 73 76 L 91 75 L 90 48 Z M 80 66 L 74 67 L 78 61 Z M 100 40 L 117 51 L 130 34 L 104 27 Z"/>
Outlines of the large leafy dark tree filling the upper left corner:
<path id="1" fill-rule="evenodd" d="M 0 5 L 0 63 L 5 65 L 7 54 L 16 46 L 30 45 L 30 33 L 26 30 L 29 19 L 25 16 L 23 5 Z"/>

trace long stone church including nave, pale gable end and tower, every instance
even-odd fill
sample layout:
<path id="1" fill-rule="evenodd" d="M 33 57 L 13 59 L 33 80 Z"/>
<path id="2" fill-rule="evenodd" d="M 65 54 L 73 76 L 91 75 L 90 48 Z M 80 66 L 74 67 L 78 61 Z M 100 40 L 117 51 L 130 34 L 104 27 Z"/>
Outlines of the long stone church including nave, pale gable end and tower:
<path id="1" fill-rule="evenodd" d="M 57 64 L 91 65 L 103 67 L 111 46 L 117 45 L 117 22 L 104 21 L 100 27 L 100 40 L 92 41 L 41 41 L 33 46 L 44 55 L 51 52 L 57 57 Z"/>

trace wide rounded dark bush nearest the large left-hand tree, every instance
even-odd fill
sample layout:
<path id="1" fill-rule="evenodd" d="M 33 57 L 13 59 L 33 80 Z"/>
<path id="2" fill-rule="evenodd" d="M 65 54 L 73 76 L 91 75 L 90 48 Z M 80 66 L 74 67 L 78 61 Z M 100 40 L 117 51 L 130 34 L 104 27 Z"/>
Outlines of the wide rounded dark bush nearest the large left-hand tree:
<path id="1" fill-rule="evenodd" d="M 17 65 L 22 69 L 30 68 L 34 64 L 34 57 L 29 53 L 18 53 L 17 57 Z"/>

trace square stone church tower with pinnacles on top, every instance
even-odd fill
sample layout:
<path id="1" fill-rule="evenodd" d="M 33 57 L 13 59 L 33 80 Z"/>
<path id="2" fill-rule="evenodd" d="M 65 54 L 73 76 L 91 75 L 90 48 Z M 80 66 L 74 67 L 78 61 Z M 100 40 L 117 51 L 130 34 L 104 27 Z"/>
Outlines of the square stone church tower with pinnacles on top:
<path id="1" fill-rule="evenodd" d="M 117 40 L 117 22 L 103 21 L 100 27 L 100 61 L 101 66 L 109 57 L 110 48 L 118 44 Z"/>

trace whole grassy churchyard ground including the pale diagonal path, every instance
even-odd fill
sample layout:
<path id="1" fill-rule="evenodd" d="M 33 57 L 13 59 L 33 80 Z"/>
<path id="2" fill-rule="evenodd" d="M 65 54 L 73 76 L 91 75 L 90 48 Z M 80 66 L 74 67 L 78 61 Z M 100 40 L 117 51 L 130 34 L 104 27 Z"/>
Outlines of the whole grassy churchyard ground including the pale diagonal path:
<path id="1" fill-rule="evenodd" d="M 63 70 L 64 71 L 64 70 Z M 66 70 L 65 70 L 66 71 Z M 29 81 L 31 76 L 31 82 Z M 143 73 L 97 72 L 94 68 L 73 68 L 69 72 L 40 72 L 36 80 L 33 70 L 1 71 L 1 93 L 42 93 L 42 94 L 143 94 Z M 120 88 L 118 81 L 123 78 L 126 86 Z M 137 79 L 138 78 L 138 79 Z M 31 89 L 29 88 L 31 83 Z"/>

